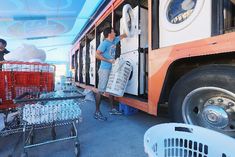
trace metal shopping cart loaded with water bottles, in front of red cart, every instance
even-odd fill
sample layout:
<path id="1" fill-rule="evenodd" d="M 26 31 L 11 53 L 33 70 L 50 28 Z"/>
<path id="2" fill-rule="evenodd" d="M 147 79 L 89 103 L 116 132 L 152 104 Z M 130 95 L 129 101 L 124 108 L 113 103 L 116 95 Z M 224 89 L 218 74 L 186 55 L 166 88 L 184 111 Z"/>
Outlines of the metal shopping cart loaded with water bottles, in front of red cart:
<path id="1" fill-rule="evenodd" d="M 58 94 L 59 93 L 59 94 Z M 27 98 L 30 96 L 30 98 Z M 80 104 L 84 95 L 75 92 L 57 91 L 50 93 L 24 93 L 14 99 L 19 112 L 21 131 L 23 132 L 23 152 L 28 156 L 28 149 L 63 141 L 74 141 L 75 155 L 79 156 L 80 144 L 77 125 L 81 119 Z M 57 138 L 56 127 L 71 125 L 70 136 Z M 35 143 L 35 131 L 51 129 L 51 139 Z M 27 133 L 27 134 L 26 134 Z"/>

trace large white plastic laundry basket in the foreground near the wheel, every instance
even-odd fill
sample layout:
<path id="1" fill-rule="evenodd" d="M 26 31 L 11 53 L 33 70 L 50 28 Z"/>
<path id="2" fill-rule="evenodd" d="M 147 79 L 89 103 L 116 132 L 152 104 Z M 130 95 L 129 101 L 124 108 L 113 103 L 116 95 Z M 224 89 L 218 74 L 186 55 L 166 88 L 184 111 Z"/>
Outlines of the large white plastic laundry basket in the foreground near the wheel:
<path id="1" fill-rule="evenodd" d="M 149 157 L 235 157 L 235 139 L 180 123 L 160 124 L 148 129 L 144 148 Z"/>

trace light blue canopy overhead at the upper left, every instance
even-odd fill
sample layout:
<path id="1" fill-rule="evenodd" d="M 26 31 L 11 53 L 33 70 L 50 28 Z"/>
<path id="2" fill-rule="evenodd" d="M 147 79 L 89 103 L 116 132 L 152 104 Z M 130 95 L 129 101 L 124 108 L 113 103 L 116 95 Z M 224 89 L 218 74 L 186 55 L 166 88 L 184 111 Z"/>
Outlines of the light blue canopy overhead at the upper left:
<path id="1" fill-rule="evenodd" d="M 43 49 L 47 61 L 67 61 L 71 44 L 104 0 L 0 0 L 0 38 L 12 51 Z"/>

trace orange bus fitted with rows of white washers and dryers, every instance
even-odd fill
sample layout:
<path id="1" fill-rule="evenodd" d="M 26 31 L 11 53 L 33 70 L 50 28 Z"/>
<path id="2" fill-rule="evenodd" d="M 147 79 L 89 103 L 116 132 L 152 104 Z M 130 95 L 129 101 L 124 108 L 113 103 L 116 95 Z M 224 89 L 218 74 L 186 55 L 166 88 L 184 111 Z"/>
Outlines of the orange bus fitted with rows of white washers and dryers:
<path id="1" fill-rule="evenodd" d="M 71 50 L 76 84 L 95 92 L 94 53 L 109 23 L 116 34 L 135 32 L 117 46 L 116 57 L 133 65 L 118 101 L 152 115 L 167 105 L 174 121 L 235 135 L 234 0 L 110 1 Z"/>

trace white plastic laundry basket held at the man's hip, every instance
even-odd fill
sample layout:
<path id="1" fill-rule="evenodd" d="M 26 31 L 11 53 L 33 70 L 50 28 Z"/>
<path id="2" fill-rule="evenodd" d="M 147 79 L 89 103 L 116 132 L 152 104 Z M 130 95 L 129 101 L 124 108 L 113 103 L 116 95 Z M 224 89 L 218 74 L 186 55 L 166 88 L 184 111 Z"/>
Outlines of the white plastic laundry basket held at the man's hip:
<path id="1" fill-rule="evenodd" d="M 109 75 L 106 92 L 117 97 L 123 96 L 131 71 L 132 65 L 130 62 L 116 59 Z"/>

